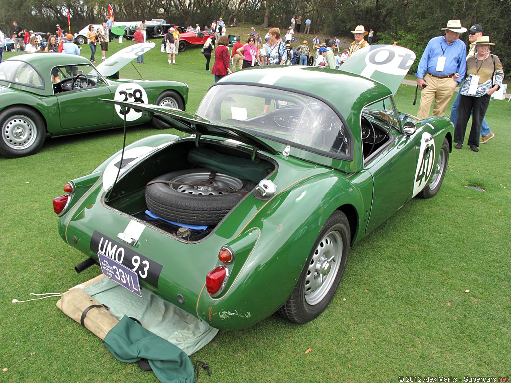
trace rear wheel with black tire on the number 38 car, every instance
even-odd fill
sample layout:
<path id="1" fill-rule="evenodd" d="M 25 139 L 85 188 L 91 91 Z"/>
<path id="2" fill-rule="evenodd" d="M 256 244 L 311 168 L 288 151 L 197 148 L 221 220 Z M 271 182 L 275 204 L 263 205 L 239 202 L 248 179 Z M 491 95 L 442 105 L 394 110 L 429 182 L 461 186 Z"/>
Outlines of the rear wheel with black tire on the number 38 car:
<path id="1" fill-rule="evenodd" d="M 11 106 L 0 113 L 0 154 L 24 157 L 37 153 L 46 138 L 46 124 L 33 109 Z"/>

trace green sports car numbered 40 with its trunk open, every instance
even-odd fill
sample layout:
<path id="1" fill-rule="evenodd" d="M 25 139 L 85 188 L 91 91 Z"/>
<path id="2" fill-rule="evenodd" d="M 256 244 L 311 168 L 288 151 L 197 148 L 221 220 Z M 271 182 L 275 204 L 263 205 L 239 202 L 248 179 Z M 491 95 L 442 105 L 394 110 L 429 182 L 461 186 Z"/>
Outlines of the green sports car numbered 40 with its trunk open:
<path id="1" fill-rule="evenodd" d="M 219 329 L 316 318 L 351 246 L 442 184 L 452 123 L 392 98 L 414 59 L 375 45 L 343 70 L 238 71 L 196 114 L 135 105 L 189 134 L 143 138 L 64 186 L 54 209 L 87 257 L 77 271 L 99 264 Z"/>

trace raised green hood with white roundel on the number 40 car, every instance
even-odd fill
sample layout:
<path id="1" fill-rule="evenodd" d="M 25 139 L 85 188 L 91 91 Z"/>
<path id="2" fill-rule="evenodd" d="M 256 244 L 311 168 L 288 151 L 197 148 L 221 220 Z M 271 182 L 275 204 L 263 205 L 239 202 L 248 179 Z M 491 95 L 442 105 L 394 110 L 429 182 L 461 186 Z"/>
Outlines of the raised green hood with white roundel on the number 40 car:
<path id="1" fill-rule="evenodd" d="M 413 61 L 415 54 L 402 46 L 373 45 L 351 55 L 340 70 L 378 81 L 395 95 Z"/>

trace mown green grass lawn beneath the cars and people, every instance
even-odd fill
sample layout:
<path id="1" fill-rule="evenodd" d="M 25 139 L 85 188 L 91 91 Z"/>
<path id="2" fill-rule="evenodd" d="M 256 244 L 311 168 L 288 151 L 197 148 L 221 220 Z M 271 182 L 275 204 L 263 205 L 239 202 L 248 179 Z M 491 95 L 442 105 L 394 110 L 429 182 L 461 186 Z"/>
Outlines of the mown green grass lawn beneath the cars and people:
<path id="1" fill-rule="evenodd" d="M 113 42 L 111 51 L 118 49 Z M 83 46 L 82 55 L 88 53 Z M 200 48 L 179 54 L 177 62 L 168 65 L 157 45 L 136 68 L 145 79 L 188 83 L 187 109 L 195 111 L 213 75 L 204 70 Z M 121 76 L 138 78 L 132 66 Z M 414 89 L 399 89 L 401 111 L 417 113 Z M 306 325 L 274 315 L 246 330 L 219 332 L 192 355 L 212 369 L 199 381 L 509 376 L 510 106 L 490 103 L 486 117 L 495 138 L 479 153 L 467 146 L 451 153 L 435 198 L 411 201 L 355 245 L 326 312 Z M 156 133 L 149 126 L 130 128 L 127 142 Z M 122 129 L 53 138 L 36 155 L 0 158 L 0 368 L 8 368 L 0 381 L 156 381 L 136 364 L 115 360 L 94 334 L 60 312 L 56 299 L 11 303 L 30 293 L 64 292 L 98 275 L 97 267 L 74 271 L 84 256 L 58 235 L 52 200 L 69 179 L 119 150 L 122 138 Z"/>

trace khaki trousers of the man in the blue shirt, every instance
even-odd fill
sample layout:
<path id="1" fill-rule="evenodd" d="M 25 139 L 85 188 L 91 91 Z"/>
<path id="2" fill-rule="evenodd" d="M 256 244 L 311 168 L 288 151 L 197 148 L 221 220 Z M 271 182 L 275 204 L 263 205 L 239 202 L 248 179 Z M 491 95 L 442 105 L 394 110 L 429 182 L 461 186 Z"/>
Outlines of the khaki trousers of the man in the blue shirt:
<path id="1" fill-rule="evenodd" d="M 424 119 L 429 116 L 431 104 L 433 100 L 433 116 L 445 115 L 447 105 L 451 101 L 452 93 L 456 87 L 456 82 L 453 78 L 437 79 L 431 76 L 429 73 L 424 77 L 424 81 L 428 83 L 428 86 L 421 90 L 421 106 L 419 107 L 419 113 L 417 117 Z"/>

